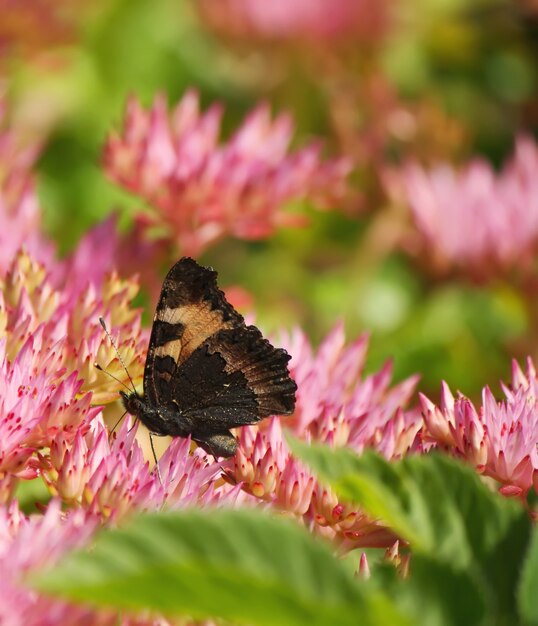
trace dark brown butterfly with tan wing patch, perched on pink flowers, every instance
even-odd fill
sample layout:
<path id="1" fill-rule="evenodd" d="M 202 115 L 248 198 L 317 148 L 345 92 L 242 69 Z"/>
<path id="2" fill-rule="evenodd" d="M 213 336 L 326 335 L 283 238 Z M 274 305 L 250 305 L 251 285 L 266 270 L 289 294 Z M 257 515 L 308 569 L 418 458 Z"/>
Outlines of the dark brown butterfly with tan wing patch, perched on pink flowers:
<path id="1" fill-rule="evenodd" d="M 120 394 L 150 433 L 190 435 L 215 457 L 230 457 L 237 450 L 231 428 L 293 413 L 290 358 L 245 324 L 217 272 L 184 257 L 164 279 L 155 310 L 144 395 Z"/>

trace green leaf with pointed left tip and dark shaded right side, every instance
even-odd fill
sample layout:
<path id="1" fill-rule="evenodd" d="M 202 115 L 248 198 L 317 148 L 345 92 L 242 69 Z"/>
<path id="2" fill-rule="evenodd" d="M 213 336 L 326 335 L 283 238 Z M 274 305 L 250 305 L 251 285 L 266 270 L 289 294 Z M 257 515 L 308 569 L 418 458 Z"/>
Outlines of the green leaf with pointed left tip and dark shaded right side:
<path id="1" fill-rule="evenodd" d="M 441 454 L 389 463 L 371 451 L 358 457 L 347 449 L 290 443 L 342 499 L 359 504 L 410 543 L 411 578 L 422 563 L 418 556 L 424 559 L 423 580 L 431 576 L 441 590 L 461 572 L 478 584 L 495 615 L 492 623 L 514 619 L 517 576 L 530 532 L 520 504 L 490 491 L 471 468 Z M 446 581 L 439 578 L 442 567 L 433 572 L 435 563 L 448 568 Z"/>

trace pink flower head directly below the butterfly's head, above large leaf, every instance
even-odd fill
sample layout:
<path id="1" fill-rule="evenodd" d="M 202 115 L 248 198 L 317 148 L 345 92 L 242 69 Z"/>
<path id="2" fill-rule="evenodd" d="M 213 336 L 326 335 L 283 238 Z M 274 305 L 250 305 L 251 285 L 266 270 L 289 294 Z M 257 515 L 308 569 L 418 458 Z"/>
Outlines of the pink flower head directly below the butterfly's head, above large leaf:
<path id="1" fill-rule="evenodd" d="M 150 468 L 136 440 L 136 426 L 125 420 L 114 435 L 101 420 L 74 439 L 60 433 L 40 468 L 51 493 L 82 506 L 103 520 L 117 521 L 133 510 L 233 502 L 239 488 L 217 489 L 221 468 L 205 455 L 190 453 L 189 439 L 175 439 Z M 160 476 L 159 476 L 160 474 Z M 161 482 L 162 480 L 162 482 Z"/>

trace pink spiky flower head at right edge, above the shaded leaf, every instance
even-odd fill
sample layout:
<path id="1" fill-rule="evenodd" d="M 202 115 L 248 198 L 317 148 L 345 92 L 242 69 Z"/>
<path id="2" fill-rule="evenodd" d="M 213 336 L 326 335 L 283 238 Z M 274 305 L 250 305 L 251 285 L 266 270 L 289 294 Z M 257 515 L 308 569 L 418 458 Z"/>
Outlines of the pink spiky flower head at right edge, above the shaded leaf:
<path id="1" fill-rule="evenodd" d="M 443 384 L 439 407 L 421 394 L 425 437 L 500 482 L 505 495 L 525 497 L 533 484 L 538 487 L 536 389 L 530 360 L 526 375 L 514 364 L 504 400 L 496 401 L 485 387 L 478 409 L 463 395 L 454 398 Z"/>

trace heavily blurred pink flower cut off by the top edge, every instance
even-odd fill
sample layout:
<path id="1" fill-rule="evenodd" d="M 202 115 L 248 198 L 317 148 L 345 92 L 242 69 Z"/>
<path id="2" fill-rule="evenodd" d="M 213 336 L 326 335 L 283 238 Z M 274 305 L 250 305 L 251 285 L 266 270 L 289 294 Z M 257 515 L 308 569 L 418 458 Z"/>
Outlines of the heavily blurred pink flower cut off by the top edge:
<path id="1" fill-rule="evenodd" d="M 389 24 L 384 0 L 199 0 L 196 6 L 217 32 L 241 38 L 372 42 Z"/>

